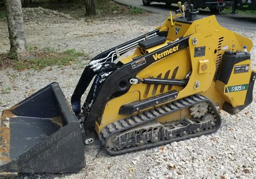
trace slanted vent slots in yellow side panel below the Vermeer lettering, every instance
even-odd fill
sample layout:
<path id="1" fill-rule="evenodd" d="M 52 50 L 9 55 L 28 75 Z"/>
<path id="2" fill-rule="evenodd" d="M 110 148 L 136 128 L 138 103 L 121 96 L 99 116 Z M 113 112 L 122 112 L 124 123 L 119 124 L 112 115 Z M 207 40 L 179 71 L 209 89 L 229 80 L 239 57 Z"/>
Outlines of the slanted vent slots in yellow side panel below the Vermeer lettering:
<path id="1" fill-rule="evenodd" d="M 178 69 L 179 69 L 179 67 L 176 67 L 176 68 L 173 70 L 171 79 L 175 79 L 175 77 L 176 77 L 176 75 L 177 75 L 177 72 L 178 72 Z M 170 72 L 171 72 L 171 70 L 167 70 L 167 71 L 165 72 L 164 79 L 168 79 L 168 78 L 169 78 Z M 160 73 L 159 75 L 157 75 L 156 78 L 161 78 L 162 75 L 163 75 L 163 74 Z M 146 98 L 147 95 L 149 95 L 151 85 L 152 85 L 152 84 L 147 84 L 147 85 L 146 85 L 146 89 L 145 89 L 144 94 L 143 94 L 143 97 L 144 97 L 144 98 Z M 153 86 L 153 89 L 152 89 L 152 93 L 151 93 L 151 94 L 152 94 L 152 96 L 154 96 L 154 95 L 156 95 L 156 93 L 157 93 L 158 84 L 153 84 L 152 86 Z M 166 85 L 161 85 L 160 90 L 159 90 L 160 93 L 163 93 L 163 92 L 164 92 L 165 86 L 166 86 Z M 171 91 L 171 89 L 172 89 L 172 85 L 168 85 L 168 90 Z"/>

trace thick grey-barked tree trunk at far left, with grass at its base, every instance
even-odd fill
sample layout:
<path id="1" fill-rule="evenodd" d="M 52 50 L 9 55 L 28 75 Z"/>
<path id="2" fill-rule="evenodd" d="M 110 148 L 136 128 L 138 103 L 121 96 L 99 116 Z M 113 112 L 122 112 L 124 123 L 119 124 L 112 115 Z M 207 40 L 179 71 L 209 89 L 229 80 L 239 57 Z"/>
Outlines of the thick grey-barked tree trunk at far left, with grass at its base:
<path id="1" fill-rule="evenodd" d="M 21 0 L 4 0 L 10 39 L 10 55 L 18 59 L 28 55 L 23 27 Z"/>

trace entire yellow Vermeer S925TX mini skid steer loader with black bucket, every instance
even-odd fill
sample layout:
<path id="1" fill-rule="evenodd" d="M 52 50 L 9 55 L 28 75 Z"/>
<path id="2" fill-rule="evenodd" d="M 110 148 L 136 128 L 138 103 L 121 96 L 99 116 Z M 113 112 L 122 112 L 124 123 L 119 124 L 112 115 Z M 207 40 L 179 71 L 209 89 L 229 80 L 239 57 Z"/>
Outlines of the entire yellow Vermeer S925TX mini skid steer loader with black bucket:
<path id="1" fill-rule="evenodd" d="M 73 92 L 72 109 L 51 83 L 4 110 L 1 173 L 79 171 L 82 129 L 94 127 L 106 153 L 119 155 L 211 134 L 221 125 L 220 110 L 246 108 L 255 80 L 252 41 L 197 13 L 179 3 L 156 30 L 93 58 Z"/>

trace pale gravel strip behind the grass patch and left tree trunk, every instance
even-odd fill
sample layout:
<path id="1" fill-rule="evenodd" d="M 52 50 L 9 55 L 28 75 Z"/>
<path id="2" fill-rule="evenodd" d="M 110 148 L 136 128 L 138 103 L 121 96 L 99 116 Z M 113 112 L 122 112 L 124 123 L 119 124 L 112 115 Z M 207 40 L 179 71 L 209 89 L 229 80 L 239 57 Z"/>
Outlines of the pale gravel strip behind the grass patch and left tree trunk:
<path id="1" fill-rule="evenodd" d="M 149 15 L 147 12 L 142 15 L 113 14 L 106 17 L 72 18 L 55 16 L 49 11 L 35 10 L 36 13 L 25 11 L 29 13 L 25 16 L 28 20 L 24 20 L 28 46 L 36 46 L 39 50 L 55 48 L 57 51 L 75 48 L 92 56 L 153 30 L 165 19 L 158 15 L 152 23 L 149 23 L 145 20 Z M 67 10 L 64 12 L 68 13 Z M 70 13 L 73 15 L 73 10 Z M 0 39 L 0 54 L 8 52 L 10 46 L 8 28 L 4 19 L 0 21 Z"/>

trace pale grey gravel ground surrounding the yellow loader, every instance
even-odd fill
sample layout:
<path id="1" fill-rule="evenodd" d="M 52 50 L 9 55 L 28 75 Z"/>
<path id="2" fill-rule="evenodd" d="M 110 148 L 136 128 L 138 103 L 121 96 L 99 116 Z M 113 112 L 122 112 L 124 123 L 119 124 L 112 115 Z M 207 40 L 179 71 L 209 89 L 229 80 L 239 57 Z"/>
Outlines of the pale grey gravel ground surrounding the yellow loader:
<path id="1" fill-rule="evenodd" d="M 56 48 L 63 51 L 76 48 L 94 56 L 140 34 L 151 31 L 166 18 L 150 13 L 139 16 L 116 16 L 99 19 L 72 20 L 64 17 L 35 18 L 25 23 L 29 45 Z M 227 27 L 227 26 L 226 26 Z M 227 27 L 228 28 L 228 27 Z M 231 30 L 245 35 L 256 44 L 255 30 L 242 27 Z M 8 32 L 0 22 L 0 51 L 8 50 Z M 254 61 L 255 45 L 252 50 Z M 41 71 L 0 70 L 0 111 L 10 108 L 45 85 L 57 81 L 70 101 L 86 61 L 64 68 L 51 67 Z M 69 79 L 69 80 L 66 80 Z M 101 148 L 95 133 L 95 143 L 84 147 L 86 166 L 79 173 L 22 174 L 32 177 L 256 177 L 256 94 L 254 101 L 239 114 L 221 112 L 223 124 L 207 136 L 173 142 L 171 145 L 147 149 L 121 156 L 108 156 Z"/>

